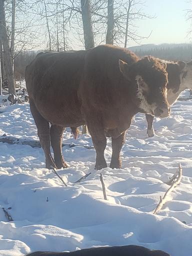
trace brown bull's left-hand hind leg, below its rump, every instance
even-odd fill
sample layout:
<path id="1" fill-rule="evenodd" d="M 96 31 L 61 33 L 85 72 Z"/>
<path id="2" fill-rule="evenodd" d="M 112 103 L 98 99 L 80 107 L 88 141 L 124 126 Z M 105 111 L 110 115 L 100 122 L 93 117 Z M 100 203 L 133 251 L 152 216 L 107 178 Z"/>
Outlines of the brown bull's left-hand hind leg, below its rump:
<path id="1" fill-rule="evenodd" d="M 40 113 L 36 109 L 34 102 L 31 99 L 29 99 L 29 103 L 30 111 L 37 127 L 37 134 L 40 140 L 40 144 L 42 146 L 42 149 L 44 150 L 45 166 L 48 169 L 56 168 L 56 165 L 50 153 L 49 123 L 40 115 Z"/>

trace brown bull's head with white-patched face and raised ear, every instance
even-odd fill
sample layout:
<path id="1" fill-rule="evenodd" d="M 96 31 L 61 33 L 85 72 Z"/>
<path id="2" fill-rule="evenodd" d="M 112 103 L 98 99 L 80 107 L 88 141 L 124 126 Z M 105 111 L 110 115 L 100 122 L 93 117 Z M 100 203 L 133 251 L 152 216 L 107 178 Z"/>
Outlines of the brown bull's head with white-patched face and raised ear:
<path id="1" fill-rule="evenodd" d="M 142 111 L 159 117 L 170 114 L 166 99 L 166 63 L 146 56 L 130 66 L 119 60 L 119 68 L 126 79 L 135 85 L 138 107 Z"/>

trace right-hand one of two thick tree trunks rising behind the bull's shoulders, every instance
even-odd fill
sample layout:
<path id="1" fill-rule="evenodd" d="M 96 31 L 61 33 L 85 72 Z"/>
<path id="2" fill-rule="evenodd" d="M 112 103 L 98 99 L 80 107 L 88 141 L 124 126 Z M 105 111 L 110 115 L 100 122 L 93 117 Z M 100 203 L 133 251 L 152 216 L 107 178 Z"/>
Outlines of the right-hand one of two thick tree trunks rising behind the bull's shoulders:
<path id="1" fill-rule="evenodd" d="M 108 14 L 107 14 L 106 43 L 113 44 L 113 30 L 114 30 L 113 0 L 108 0 L 107 13 Z"/>

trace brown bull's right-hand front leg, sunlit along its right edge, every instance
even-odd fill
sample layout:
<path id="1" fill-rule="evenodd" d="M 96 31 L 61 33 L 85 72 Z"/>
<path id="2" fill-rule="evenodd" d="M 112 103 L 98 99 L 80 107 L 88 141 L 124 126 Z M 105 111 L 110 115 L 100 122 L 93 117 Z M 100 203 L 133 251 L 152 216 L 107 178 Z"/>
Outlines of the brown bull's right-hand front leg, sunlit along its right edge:
<path id="1" fill-rule="evenodd" d="M 118 136 L 117 138 L 111 137 L 112 156 L 109 165 L 110 168 L 121 168 L 120 150 L 122 148 L 122 145 L 124 144 L 125 133 L 126 131 L 121 133 L 120 136 Z"/>

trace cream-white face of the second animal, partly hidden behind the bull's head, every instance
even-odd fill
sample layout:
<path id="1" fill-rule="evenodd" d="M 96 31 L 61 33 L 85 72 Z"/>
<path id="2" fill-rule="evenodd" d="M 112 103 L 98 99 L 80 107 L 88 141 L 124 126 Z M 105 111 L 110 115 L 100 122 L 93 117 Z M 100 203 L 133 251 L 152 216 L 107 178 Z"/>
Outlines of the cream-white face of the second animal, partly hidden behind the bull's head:
<path id="1" fill-rule="evenodd" d="M 185 89 L 192 89 L 192 62 L 186 63 L 186 66 L 183 68 L 180 73 L 180 85 L 178 90 L 167 89 L 167 101 L 172 105 L 179 94 Z"/>

